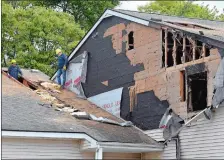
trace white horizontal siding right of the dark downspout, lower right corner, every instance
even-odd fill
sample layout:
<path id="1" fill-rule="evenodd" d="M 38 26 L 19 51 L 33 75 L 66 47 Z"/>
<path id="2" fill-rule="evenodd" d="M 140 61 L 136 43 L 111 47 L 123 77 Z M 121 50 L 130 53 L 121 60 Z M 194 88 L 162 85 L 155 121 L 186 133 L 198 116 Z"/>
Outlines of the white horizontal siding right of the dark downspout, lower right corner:
<path id="1" fill-rule="evenodd" d="M 181 158 L 224 159 L 224 107 L 180 132 Z"/>

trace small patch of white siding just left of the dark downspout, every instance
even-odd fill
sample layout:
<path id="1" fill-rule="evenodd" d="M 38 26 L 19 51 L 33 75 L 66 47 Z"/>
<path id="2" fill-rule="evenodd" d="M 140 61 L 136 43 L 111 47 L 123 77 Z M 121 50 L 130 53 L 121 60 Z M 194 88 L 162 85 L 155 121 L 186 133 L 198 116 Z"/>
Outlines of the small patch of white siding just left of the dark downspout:
<path id="1" fill-rule="evenodd" d="M 176 159 L 176 141 L 172 140 L 167 143 L 162 153 L 162 159 Z"/>

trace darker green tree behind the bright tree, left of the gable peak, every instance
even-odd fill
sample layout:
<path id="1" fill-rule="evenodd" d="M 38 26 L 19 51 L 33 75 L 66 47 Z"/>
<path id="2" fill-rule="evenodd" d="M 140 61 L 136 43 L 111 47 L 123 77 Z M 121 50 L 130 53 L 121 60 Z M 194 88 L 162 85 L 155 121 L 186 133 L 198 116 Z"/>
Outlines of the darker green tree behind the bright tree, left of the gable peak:
<path id="1" fill-rule="evenodd" d="M 119 0 L 42 0 L 42 1 L 15 1 L 8 0 L 8 3 L 16 7 L 42 6 L 52 8 L 56 11 L 66 12 L 74 17 L 82 29 L 90 29 L 97 19 L 107 8 L 114 8 Z"/>

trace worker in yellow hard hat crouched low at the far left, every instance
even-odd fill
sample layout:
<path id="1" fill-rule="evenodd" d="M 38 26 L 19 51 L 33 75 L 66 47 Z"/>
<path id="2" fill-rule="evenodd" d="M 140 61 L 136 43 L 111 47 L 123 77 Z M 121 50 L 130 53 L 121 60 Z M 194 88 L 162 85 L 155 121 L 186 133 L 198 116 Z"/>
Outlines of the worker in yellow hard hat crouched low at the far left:
<path id="1" fill-rule="evenodd" d="M 13 77 L 15 78 L 16 80 L 18 80 L 19 78 L 19 74 L 22 76 L 22 71 L 21 69 L 19 68 L 19 66 L 16 64 L 16 60 L 12 60 L 11 61 L 11 65 L 9 66 L 8 68 L 8 76 L 9 77 Z"/>

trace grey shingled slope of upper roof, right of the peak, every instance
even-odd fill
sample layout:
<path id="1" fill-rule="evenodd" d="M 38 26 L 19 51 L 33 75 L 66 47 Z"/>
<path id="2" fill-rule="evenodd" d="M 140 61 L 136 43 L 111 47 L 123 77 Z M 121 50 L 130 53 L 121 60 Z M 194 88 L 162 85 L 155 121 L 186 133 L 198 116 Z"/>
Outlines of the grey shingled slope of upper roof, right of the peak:
<path id="1" fill-rule="evenodd" d="M 149 20 L 149 21 L 152 19 L 161 19 L 164 22 L 194 24 L 194 25 L 204 26 L 204 27 L 213 28 L 213 29 L 223 29 L 224 27 L 224 21 L 177 17 L 177 16 L 169 16 L 169 15 L 162 15 L 162 14 L 156 14 L 156 13 L 145 13 L 145 12 L 138 12 L 138 11 L 121 10 L 121 9 L 113 9 L 113 11 L 124 13 L 133 17 L 137 17 L 137 18 L 141 18 L 141 19 Z"/>

